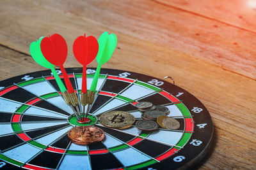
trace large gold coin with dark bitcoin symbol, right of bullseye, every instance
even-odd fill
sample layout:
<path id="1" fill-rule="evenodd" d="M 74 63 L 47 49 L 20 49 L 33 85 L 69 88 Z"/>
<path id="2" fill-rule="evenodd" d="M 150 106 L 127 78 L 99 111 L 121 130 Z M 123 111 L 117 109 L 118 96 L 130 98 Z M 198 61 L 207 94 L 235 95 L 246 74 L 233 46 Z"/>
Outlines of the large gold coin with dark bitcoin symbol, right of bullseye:
<path id="1" fill-rule="evenodd" d="M 135 117 L 125 111 L 109 111 L 100 116 L 100 123 L 106 127 L 126 129 L 135 122 Z"/>

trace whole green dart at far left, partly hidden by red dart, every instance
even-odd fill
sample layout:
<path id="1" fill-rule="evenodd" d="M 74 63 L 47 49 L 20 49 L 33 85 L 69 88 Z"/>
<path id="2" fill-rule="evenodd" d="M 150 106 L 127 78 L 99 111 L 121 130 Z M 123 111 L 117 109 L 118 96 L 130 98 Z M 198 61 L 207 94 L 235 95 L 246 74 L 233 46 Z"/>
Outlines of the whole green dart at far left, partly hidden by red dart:
<path id="1" fill-rule="evenodd" d="M 57 83 L 58 87 L 60 88 L 63 99 L 65 100 L 67 105 L 72 108 L 76 117 L 78 118 L 76 111 L 72 107 L 72 103 L 71 103 L 70 97 L 68 96 L 67 89 L 66 89 L 65 85 L 63 85 L 63 83 L 60 79 L 60 76 L 58 75 L 58 73 L 56 72 L 56 70 L 54 68 L 54 65 L 51 64 L 49 61 L 47 61 L 41 52 L 40 44 L 41 44 L 42 39 L 44 39 L 44 38 L 45 37 L 43 36 L 43 37 L 39 38 L 38 40 L 36 39 L 36 41 L 33 41 L 30 44 L 29 51 L 31 53 L 31 56 L 40 66 L 51 69 L 52 74 L 56 80 L 56 83 Z"/>

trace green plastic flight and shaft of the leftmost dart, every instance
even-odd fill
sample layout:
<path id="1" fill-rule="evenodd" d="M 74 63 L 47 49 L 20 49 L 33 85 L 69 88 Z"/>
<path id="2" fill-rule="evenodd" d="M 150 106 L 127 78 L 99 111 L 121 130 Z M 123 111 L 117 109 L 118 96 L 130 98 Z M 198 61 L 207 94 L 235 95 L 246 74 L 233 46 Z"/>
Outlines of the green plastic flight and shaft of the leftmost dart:
<path id="1" fill-rule="evenodd" d="M 52 74 L 58 84 L 58 87 L 60 88 L 60 91 L 65 92 L 67 89 L 66 89 L 65 85 L 63 85 L 63 83 L 60 79 L 60 76 L 54 69 L 54 65 L 51 64 L 48 60 L 46 60 L 44 55 L 41 52 L 40 44 L 41 44 L 42 39 L 44 39 L 44 38 L 45 37 L 42 36 L 38 40 L 36 39 L 36 41 L 33 41 L 30 44 L 29 50 L 30 50 L 31 56 L 40 66 L 51 69 Z"/>

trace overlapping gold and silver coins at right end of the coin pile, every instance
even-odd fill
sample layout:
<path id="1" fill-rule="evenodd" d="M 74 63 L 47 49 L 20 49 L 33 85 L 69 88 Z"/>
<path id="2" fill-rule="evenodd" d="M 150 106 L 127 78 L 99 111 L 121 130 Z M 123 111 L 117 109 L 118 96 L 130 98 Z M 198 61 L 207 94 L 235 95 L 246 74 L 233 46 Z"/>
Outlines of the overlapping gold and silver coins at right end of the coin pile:
<path id="1" fill-rule="evenodd" d="M 159 124 L 164 129 L 179 129 L 180 123 L 174 118 L 167 116 L 157 117 L 157 124 Z"/>

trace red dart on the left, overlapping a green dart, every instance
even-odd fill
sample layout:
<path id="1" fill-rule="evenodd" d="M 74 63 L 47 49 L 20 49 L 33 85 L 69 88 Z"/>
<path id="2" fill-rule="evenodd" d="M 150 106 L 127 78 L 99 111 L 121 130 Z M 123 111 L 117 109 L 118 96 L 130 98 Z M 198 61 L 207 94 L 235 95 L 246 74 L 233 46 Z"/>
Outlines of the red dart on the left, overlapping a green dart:
<path id="1" fill-rule="evenodd" d="M 77 95 L 74 92 L 74 89 L 68 78 L 65 68 L 63 67 L 64 62 L 67 59 L 68 53 L 67 43 L 65 39 L 60 34 L 52 34 L 52 36 L 45 37 L 44 39 L 42 39 L 40 46 L 45 59 L 51 62 L 51 64 L 60 67 L 64 77 L 65 84 L 68 89 L 68 94 L 70 96 L 71 103 L 73 106 L 76 106 L 77 112 L 80 117 L 78 119 L 81 119 L 81 113 L 78 108 L 79 102 L 77 99 Z"/>

